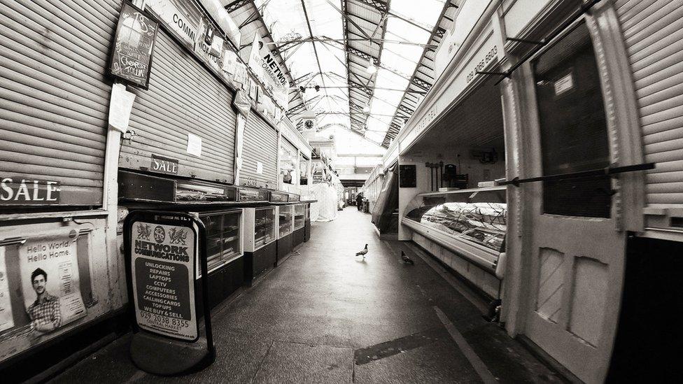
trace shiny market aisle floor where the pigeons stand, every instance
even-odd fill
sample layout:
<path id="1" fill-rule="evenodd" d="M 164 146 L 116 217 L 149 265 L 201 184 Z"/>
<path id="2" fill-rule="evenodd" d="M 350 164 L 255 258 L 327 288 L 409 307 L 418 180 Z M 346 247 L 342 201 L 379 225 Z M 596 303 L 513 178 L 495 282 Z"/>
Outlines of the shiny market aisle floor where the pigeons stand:
<path id="1" fill-rule="evenodd" d="M 365 243 L 365 262 L 354 257 Z M 404 249 L 415 261 L 400 261 Z M 57 383 L 505 383 L 556 376 L 404 243 L 380 241 L 346 208 L 213 316 L 218 357 L 198 374 L 135 369 L 123 337 Z"/>

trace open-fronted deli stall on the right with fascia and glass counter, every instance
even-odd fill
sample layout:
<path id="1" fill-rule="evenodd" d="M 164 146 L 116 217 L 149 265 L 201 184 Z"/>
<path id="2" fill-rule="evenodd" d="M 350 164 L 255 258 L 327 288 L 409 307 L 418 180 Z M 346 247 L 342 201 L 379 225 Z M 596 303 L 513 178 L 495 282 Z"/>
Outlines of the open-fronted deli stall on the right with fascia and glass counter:
<path id="1" fill-rule="evenodd" d="M 458 8 L 457 27 L 435 54 L 438 78 L 383 160 L 397 159 L 386 180 L 397 190 L 398 239 L 417 243 L 484 299 L 505 293 L 507 260 L 507 190 L 488 190 L 507 180 L 502 85 L 491 76 L 505 58 L 499 6 Z M 388 221 L 388 210 L 376 213 Z"/>

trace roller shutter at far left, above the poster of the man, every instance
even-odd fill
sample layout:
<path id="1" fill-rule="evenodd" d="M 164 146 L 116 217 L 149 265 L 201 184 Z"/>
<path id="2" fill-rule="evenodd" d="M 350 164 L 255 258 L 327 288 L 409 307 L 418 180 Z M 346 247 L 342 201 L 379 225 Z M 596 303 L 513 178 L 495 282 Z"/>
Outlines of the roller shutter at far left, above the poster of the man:
<path id="1" fill-rule="evenodd" d="M 102 202 L 120 1 L 0 0 L 0 177 L 57 181 L 59 204 Z"/>

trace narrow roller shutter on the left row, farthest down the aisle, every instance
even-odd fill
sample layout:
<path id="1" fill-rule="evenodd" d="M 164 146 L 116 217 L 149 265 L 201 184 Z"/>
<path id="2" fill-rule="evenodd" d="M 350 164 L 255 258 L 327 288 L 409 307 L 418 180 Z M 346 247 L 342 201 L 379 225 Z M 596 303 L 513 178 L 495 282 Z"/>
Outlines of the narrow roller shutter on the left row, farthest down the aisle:
<path id="1" fill-rule="evenodd" d="M 277 131 L 251 111 L 244 129 L 244 162 L 240 170 L 240 184 L 248 185 L 248 179 L 255 179 L 260 187 L 276 187 L 277 182 Z M 258 162 L 262 173 L 258 173 Z"/>

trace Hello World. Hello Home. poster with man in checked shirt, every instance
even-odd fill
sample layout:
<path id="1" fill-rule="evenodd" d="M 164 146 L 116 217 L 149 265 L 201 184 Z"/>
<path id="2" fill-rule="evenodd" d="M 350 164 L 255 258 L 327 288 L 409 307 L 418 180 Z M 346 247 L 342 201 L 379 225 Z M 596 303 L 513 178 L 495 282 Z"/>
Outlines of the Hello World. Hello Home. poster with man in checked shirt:
<path id="1" fill-rule="evenodd" d="M 34 336 L 41 336 L 86 315 L 80 295 L 78 231 L 27 239 L 19 247 L 24 306 Z"/>

